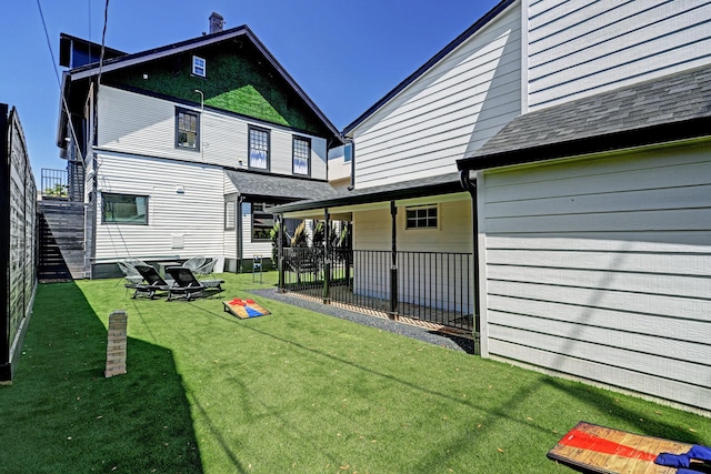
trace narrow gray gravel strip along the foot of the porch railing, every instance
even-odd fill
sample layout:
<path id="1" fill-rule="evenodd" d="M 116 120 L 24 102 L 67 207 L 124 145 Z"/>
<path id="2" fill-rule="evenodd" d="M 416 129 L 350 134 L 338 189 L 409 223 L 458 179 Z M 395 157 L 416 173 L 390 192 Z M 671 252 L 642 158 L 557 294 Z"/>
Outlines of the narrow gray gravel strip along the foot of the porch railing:
<path id="1" fill-rule="evenodd" d="M 461 337 L 454 334 L 447 334 L 427 327 L 420 327 L 412 324 L 387 320 L 384 317 L 371 316 L 354 311 L 343 310 L 341 307 L 331 306 L 329 304 L 317 303 L 314 301 L 292 296 L 289 293 L 280 293 L 277 289 L 251 290 L 250 292 L 269 300 L 281 301 L 293 306 L 299 306 L 306 310 L 314 311 L 317 313 L 328 314 L 330 316 L 352 321 L 358 324 L 377 327 L 382 331 L 401 334 L 407 337 L 440 345 L 442 347 L 462 351 L 469 354 L 473 354 L 474 352 L 474 342 L 468 337 Z"/>

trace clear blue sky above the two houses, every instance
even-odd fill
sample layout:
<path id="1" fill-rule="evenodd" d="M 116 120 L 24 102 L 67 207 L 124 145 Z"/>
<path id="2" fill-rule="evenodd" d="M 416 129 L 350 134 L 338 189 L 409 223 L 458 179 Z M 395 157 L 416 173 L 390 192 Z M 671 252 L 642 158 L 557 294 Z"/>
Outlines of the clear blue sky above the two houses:
<path id="1" fill-rule="evenodd" d="M 0 0 L 0 102 L 18 110 L 38 186 L 42 168 L 67 165 L 54 143 L 59 34 L 101 43 L 107 1 L 106 46 L 128 53 L 197 38 L 209 31 L 213 11 L 224 17 L 224 29 L 247 24 L 338 130 L 498 3 Z"/>

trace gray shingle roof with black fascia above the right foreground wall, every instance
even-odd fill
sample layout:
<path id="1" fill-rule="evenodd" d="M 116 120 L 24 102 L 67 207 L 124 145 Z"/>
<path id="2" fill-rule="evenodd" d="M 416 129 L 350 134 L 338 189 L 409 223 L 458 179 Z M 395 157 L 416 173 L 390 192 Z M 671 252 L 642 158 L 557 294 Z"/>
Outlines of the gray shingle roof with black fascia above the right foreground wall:
<path id="1" fill-rule="evenodd" d="M 481 170 L 711 135 L 711 65 L 518 117 L 457 161 Z"/>

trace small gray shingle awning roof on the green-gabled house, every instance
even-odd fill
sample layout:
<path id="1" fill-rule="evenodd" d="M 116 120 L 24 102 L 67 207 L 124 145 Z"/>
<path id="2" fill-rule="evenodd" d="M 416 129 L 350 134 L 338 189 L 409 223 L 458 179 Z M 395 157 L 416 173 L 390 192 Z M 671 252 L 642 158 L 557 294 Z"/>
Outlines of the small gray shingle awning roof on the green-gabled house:
<path id="1" fill-rule="evenodd" d="M 324 181 L 303 180 L 247 171 L 227 170 L 226 172 L 230 181 L 234 184 L 234 188 L 237 188 L 237 191 L 247 196 L 263 196 L 292 201 L 314 196 L 327 198 L 336 194 L 336 190 Z"/>

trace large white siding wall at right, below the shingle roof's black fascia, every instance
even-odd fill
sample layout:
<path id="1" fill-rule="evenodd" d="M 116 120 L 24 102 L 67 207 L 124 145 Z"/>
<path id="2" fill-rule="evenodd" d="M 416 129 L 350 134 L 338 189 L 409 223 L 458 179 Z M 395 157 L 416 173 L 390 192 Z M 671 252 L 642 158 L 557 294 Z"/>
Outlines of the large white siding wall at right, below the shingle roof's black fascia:
<path id="1" fill-rule="evenodd" d="M 710 151 L 480 172 L 484 355 L 708 409 Z"/>

